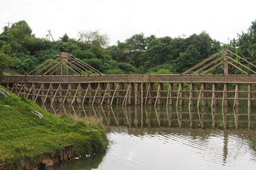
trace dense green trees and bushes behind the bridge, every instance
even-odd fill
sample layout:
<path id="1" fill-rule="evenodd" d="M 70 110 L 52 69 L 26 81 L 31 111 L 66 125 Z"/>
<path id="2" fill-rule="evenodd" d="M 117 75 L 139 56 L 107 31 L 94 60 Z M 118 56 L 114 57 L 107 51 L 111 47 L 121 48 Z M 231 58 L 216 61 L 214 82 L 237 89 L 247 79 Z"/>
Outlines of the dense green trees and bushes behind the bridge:
<path id="1" fill-rule="evenodd" d="M 6 68 L 26 74 L 59 52 L 68 52 L 104 74 L 179 74 L 222 48 L 256 62 L 256 21 L 247 33 L 221 44 L 202 32 L 188 37 L 145 37 L 135 34 L 108 46 L 109 38 L 98 30 L 79 32 L 79 39 L 63 35 L 57 41 L 37 38 L 25 20 L 4 27 L 0 34 L 0 74 Z"/>

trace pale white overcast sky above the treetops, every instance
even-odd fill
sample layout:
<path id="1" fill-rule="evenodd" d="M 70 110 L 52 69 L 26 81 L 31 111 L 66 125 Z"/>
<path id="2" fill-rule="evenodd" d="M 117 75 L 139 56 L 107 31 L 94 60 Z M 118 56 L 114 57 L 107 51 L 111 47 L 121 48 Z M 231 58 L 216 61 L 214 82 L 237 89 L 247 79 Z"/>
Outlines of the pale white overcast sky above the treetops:
<path id="1" fill-rule="evenodd" d="M 256 1 L 0 0 L 0 27 L 26 20 L 37 37 L 52 30 L 55 40 L 78 31 L 107 33 L 111 44 L 136 33 L 186 37 L 206 31 L 223 43 L 247 32 L 256 19 Z"/>

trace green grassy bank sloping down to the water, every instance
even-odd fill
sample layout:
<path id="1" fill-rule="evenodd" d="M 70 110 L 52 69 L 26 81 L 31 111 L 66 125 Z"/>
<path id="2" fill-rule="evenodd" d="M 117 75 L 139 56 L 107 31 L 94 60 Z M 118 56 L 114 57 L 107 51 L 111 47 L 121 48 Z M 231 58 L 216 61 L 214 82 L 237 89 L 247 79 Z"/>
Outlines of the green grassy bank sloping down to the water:
<path id="1" fill-rule="evenodd" d="M 35 110 L 44 118 L 37 118 Z M 100 122 L 57 117 L 14 94 L 7 98 L 0 95 L 0 120 L 0 169 L 19 167 L 25 157 L 37 164 L 45 155 L 59 153 L 68 145 L 74 145 L 72 155 L 78 156 L 105 151 L 108 144 Z"/>

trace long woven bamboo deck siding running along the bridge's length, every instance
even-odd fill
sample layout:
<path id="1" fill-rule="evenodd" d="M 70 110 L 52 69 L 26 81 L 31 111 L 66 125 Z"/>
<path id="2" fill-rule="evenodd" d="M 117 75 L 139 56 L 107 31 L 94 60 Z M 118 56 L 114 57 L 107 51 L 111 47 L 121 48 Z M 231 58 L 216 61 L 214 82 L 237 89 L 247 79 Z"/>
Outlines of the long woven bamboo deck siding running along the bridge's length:
<path id="1" fill-rule="evenodd" d="M 256 75 L 6 76 L 4 83 L 256 83 Z"/>

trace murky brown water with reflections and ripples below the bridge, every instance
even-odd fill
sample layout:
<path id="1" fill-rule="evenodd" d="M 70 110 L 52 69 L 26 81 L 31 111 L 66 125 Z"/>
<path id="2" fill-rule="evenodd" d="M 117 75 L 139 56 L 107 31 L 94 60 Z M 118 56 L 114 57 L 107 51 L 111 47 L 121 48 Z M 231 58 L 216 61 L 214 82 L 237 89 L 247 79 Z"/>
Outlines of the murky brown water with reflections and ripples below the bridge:
<path id="1" fill-rule="evenodd" d="M 104 154 L 47 169 L 255 169 L 256 110 L 214 107 L 46 105 L 55 114 L 102 117 Z"/>

